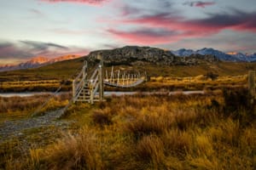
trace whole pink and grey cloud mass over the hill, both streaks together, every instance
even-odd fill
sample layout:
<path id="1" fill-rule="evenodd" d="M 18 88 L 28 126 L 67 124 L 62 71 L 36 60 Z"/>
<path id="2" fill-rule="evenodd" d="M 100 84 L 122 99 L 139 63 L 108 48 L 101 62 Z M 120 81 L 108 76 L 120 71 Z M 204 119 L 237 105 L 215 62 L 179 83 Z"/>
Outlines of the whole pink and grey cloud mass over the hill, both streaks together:
<path id="1" fill-rule="evenodd" d="M 132 9 L 130 11 L 133 11 Z M 127 8 L 125 8 L 126 14 Z M 231 14 L 207 14 L 204 19 L 188 20 L 177 14 L 160 13 L 141 16 L 129 16 L 117 23 L 122 26 L 143 27 L 143 30 L 119 31 L 109 28 L 107 31 L 113 37 L 124 42 L 139 44 L 160 44 L 174 42 L 186 38 L 210 37 L 224 30 L 256 32 L 256 12 L 245 13 L 232 10 Z M 163 33 L 160 34 L 161 30 Z M 173 33 L 175 32 L 175 34 Z"/>

